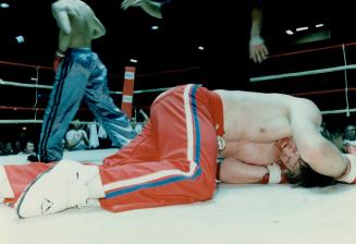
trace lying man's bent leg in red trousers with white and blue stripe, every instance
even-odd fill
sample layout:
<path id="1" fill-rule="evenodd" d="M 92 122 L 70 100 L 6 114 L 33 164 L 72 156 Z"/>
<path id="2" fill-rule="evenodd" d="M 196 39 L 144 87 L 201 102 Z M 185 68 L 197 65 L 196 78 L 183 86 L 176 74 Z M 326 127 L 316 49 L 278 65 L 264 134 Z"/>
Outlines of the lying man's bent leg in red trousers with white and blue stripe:
<path id="1" fill-rule="evenodd" d="M 197 86 L 180 86 L 160 96 L 151 107 L 149 139 L 156 148 L 135 163 L 121 163 L 121 151 L 99 168 L 106 198 L 101 206 L 123 211 L 207 200 L 216 188 L 217 133 L 205 95 Z M 148 134 L 150 133 L 150 134 Z M 148 145 L 146 145 L 146 143 Z M 155 143 L 155 145 L 150 145 Z M 135 147 L 136 146 L 136 147 Z M 144 155 L 134 139 L 123 150 Z"/>

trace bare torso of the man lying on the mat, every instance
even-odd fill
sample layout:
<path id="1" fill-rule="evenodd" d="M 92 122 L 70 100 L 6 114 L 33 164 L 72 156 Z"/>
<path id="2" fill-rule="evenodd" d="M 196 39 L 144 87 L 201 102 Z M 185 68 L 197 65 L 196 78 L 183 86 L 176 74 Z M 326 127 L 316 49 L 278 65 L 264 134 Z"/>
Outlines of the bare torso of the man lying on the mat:
<path id="1" fill-rule="evenodd" d="M 305 99 L 281 94 L 214 91 L 224 109 L 226 146 L 221 156 L 259 166 L 279 161 L 281 150 L 277 142 L 293 137 L 291 113 L 298 102 L 308 106 Z"/>

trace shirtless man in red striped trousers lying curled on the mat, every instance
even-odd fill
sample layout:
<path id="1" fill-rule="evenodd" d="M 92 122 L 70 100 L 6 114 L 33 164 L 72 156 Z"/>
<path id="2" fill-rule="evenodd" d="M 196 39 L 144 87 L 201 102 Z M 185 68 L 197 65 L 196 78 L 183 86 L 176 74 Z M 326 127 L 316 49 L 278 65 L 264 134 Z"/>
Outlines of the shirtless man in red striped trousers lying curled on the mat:
<path id="1" fill-rule="evenodd" d="M 208 200 L 217 180 L 355 183 L 355 156 L 323 137 L 320 124 L 320 110 L 304 98 L 182 85 L 158 96 L 143 132 L 102 164 L 0 167 L 0 193 L 28 218 L 90 198 L 110 211 Z"/>

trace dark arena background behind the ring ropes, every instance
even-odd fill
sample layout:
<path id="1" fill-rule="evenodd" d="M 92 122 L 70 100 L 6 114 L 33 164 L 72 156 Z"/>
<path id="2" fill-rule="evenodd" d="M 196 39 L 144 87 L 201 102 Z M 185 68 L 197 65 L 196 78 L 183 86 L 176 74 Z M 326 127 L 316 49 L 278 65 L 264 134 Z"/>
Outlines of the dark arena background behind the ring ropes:
<path id="1" fill-rule="evenodd" d="M 192 2 L 194 0 L 191 0 Z M 210 0 L 207 0 L 210 1 Z M 49 0 L 2 0 L 10 4 L 8 9 L 0 9 L 0 78 L 19 83 L 33 83 L 38 77 L 38 84 L 51 85 L 53 71 L 50 69 L 54 50 L 57 49 L 58 28 L 51 15 Z M 107 28 L 107 35 L 94 42 L 94 50 L 99 53 L 109 71 L 109 86 L 111 90 L 122 90 L 123 72 L 125 65 L 136 66 L 135 89 L 150 89 L 157 87 L 172 87 L 183 83 L 205 83 L 206 75 L 201 68 L 207 59 L 209 50 L 198 50 L 199 45 L 209 42 L 206 38 L 221 38 L 219 42 L 224 46 L 230 38 L 238 37 L 241 29 L 234 29 L 233 20 L 241 14 L 238 5 L 232 2 L 216 2 L 217 14 L 211 16 L 209 25 L 219 23 L 219 19 L 229 15 L 232 23 L 224 30 L 223 38 L 214 34 L 200 35 L 199 26 L 186 28 L 168 27 L 163 20 L 157 20 L 145 14 L 140 9 L 123 11 L 120 8 L 121 1 L 114 0 L 88 0 L 86 1 L 96 12 L 98 19 Z M 238 1 L 234 4 L 238 4 Z M 188 8 L 188 7 L 187 7 Z M 201 12 L 205 11 L 201 5 Z M 196 17 L 200 17 L 200 11 L 196 11 Z M 253 64 L 250 76 L 262 76 L 289 72 L 309 71 L 330 66 L 353 64 L 356 48 L 343 44 L 356 40 L 355 14 L 351 1 L 331 0 L 307 1 L 307 0 L 265 0 L 263 1 L 263 28 L 262 34 L 267 46 L 270 49 L 270 59 L 261 64 Z M 222 15 L 221 15 L 222 14 Z M 236 19 L 237 20 L 237 19 Z M 182 19 L 177 20 L 180 26 Z M 321 30 L 310 28 L 308 32 L 287 36 L 285 29 L 298 26 L 314 26 L 323 23 Z M 201 24 L 201 23 L 200 23 Z M 204 23 L 202 23 L 204 24 Z M 158 25 L 159 29 L 150 27 Z M 238 24 L 236 23 L 236 26 Z M 216 26 L 214 26 L 216 27 Z M 201 26 L 201 29 L 209 29 L 209 26 Z M 319 33 L 318 33 L 319 32 Z M 320 35 L 320 32 L 323 35 Z M 19 44 L 16 36 L 22 35 L 24 42 Z M 317 36 L 314 41 L 306 37 Z M 326 48 L 333 47 L 334 48 Z M 322 49 L 322 50 L 318 50 Z M 315 50 L 289 56 L 281 53 L 298 52 L 302 50 Z M 138 63 L 131 63 L 130 59 L 138 60 Z M 222 57 L 218 57 L 221 59 Z M 237 80 L 238 73 L 247 69 L 251 63 L 237 63 L 237 60 L 229 57 L 230 60 L 221 60 L 229 64 L 231 78 L 222 81 L 209 81 L 211 87 L 244 88 L 257 91 L 285 93 L 303 96 L 312 99 L 321 110 L 334 110 L 345 108 L 345 80 L 347 77 L 349 87 L 349 107 L 355 106 L 355 74 L 352 70 L 327 74 L 318 74 L 303 77 L 290 77 L 275 81 L 247 83 L 243 85 Z M 235 68 L 231 64 L 235 63 Z M 20 66 L 4 62 L 15 62 L 38 66 Z M 236 74 L 236 76 L 234 75 Z M 231 84 L 234 84 L 233 86 Z M 41 119 L 42 110 L 48 99 L 48 89 L 20 88 L 0 85 L 0 119 Z M 319 93 L 320 90 L 334 90 L 334 93 Z M 149 111 L 151 100 L 157 93 L 135 95 L 134 107 L 144 108 Z M 121 96 L 113 95 L 118 106 L 121 103 Z M 10 107 L 10 108 L 9 108 Z M 13 109 L 13 107 L 19 107 Z M 34 109 L 22 108 L 38 108 Z M 85 107 L 83 107 L 85 109 Z M 79 117 L 83 120 L 90 120 L 90 114 L 83 111 Z M 344 126 L 345 123 L 353 123 L 354 117 L 346 117 L 345 113 L 337 115 L 326 115 L 326 120 L 332 125 Z M 336 121 L 336 122 L 334 122 Z M 35 129 L 33 136 L 38 136 L 38 125 L 30 125 Z M 27 126 L 27 133 L 28 127 Z M 13 130 L 23 132 L 23 125 L 0 124 L 3 137 L 13 136 Z M 11 130 L 10 130 L 11 129 Z M 13 130 L 12 130 L 13 129 Z M 17 133 L 17 132 L 15 132 Z"/>

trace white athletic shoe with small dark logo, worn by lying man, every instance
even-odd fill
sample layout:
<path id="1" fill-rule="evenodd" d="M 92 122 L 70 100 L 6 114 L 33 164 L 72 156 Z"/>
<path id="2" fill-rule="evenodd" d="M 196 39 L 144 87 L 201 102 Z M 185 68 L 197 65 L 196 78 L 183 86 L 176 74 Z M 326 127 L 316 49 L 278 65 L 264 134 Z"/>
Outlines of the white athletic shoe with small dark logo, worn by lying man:
<path id="1" fill-rule="evenodd" d="M 15 205 L 17 216 L 29 218 L 86 206 L 86 183 L 98 174 L 94 169 L 76 161 L 59 161 L 26 187 Z"/>

